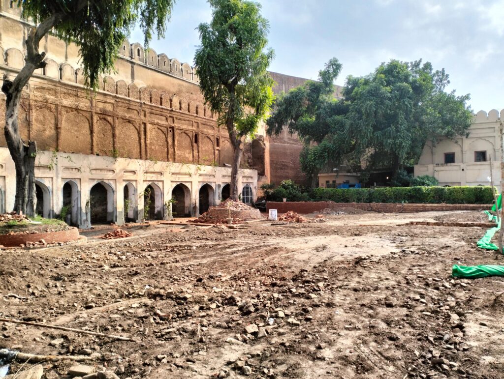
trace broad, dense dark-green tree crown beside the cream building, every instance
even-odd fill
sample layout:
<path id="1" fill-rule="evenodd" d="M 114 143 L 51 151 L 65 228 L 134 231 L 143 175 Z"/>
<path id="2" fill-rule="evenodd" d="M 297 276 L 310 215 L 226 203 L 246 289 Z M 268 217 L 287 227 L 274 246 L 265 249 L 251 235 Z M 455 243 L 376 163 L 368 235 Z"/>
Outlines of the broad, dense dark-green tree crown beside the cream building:
<path id="1" fill-rule="evenodd" d="M 418 162 L 427 140 L 467 133 L 470 97 L 447 93 L 449 83 L 445 70 L 433 71 L 429 62 L 391 60 L 365 77 L 348 77 L 343 100 L 325 95 L 295 103 L 291 112 L 297 119 L 281 111 L 293 97 L 289 92 L 276 104 L 268 132 L 278 133 L 283 125 L 297 132 L 306 142 L 301 167 L 311 175 L 344 161 L 396 173 Z"/>

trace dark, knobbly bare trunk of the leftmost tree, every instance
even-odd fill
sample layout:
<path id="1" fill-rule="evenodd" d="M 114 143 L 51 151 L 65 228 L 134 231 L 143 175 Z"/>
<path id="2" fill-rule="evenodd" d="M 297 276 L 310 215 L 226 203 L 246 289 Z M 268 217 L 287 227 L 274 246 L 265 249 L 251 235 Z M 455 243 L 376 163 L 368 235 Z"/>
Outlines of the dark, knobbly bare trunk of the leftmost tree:
<path id="1" fill-rule="evenodd" d="M 45 67 L 43 61 L 45 53 L 39 53 L 39 43 L 51 28 L 61 21 L 62 14 L 55 13 L 42 21 L 36 28 L 32 28 L 26 39 L 25 65 L 11 81 L 4 75 L 2 92 L 6 94 L 6 113 L 4 133 L 9 147 L 9 153 L 16 169 L 16 197 L 14 210 L 29 216 L 35 215 L 35 157 L 37 144 L 28 141 L 26 144 L 19 135 L 18 111 L 21 94 L 37 68 Z"/>

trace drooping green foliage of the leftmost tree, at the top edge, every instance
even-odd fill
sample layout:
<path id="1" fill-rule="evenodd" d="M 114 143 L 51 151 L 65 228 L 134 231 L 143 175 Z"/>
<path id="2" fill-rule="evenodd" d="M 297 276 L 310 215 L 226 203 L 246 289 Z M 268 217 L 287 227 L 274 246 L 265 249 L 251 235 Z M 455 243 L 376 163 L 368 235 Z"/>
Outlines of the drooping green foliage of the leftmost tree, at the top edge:
<path id="1" fill-rule="evenodd" d="M 79 46 L 86 86 L 98 88 L 99 74 L 113 69 L 117 52 L 137 23 L 145 44 L 155 30 L 163 37 L 174 0 L 14 0 L 23 17 L 40 24 L 56 17 L 52 33 Z"/>

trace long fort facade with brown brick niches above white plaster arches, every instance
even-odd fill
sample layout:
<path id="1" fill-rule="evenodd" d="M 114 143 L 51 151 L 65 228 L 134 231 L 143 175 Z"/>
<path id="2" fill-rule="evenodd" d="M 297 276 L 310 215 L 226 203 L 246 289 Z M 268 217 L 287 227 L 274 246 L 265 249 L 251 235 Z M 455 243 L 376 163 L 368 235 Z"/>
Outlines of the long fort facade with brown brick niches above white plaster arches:
<path id="1" fill-rule="evenodd" d="M 0 74 L 12 79 L 24 65 L 30 24 L 10 1 L 2 0 L 0 8 Z M 233 155 L 229 136 L 203 104 L 189 64 L 124 41 L 116 70 L 90 92 L 83 86 L 77 46 L 49 35 L 40 48 L 47 66 L 26 86 L 19 113 L 22 138 L 37 141 L 39 149 L 40 213 L 53 217 L 67 208 L 72 224 L 89 228 L 93 219 L 141 220 L 146 207 L 148 218 L 165 218 L 172 196 L 175 215 L 196 216 L 226 196 Z M 5 122 L 3 94 L 0 121 Z M 15 193 L 6 146 L 2 133 L 1 211 L 12 210 Z M 242 161 L 239 188 L 254 200 L 258 173 L 247 165 L 265 164 L 253 155 Z"/>

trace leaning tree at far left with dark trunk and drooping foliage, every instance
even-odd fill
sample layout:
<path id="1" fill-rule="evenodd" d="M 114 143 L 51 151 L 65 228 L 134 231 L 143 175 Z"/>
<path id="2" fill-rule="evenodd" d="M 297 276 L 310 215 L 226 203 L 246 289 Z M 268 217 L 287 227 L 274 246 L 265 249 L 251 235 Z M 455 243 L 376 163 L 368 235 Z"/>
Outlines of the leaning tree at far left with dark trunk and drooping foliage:
<path id="1" fill-rule="evenodd" d="M 18 109 L 21 93 L 33 72 L 45 67 L 45 52 L 39 52 L 40 40 L 48 33 L 80 48 L 85 85 L 97 89 L 100 73 L 109 72 L 118 57 L 118 49 L 140 22 L 145 43 L 154 29 L 163 36 L 174 0 L 14 0 L 22 7 L 22 17 L 34 27 L 26 38 L 25 65 L 13 80 L 4 75 L 2 92 L 6 95 L 5 137 L 16 169 L 14 210 L 35 214 L 35 141 L 23 141 L 19 134 Z"/>

